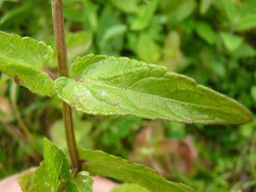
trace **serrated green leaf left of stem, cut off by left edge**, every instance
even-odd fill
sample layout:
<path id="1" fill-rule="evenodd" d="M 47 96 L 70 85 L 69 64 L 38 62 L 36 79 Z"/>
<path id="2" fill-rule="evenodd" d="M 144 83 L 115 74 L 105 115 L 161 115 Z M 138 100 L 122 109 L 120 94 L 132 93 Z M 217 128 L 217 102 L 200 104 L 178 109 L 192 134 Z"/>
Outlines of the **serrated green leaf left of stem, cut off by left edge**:
<path id="1" fill-rule="evenodd" d="M 0 32 L 0 71 L 16 84 L 40 95 L 53 96 L 55 74 L 46 67 L 53 63 L 53 50 L 44 42 Z"/>

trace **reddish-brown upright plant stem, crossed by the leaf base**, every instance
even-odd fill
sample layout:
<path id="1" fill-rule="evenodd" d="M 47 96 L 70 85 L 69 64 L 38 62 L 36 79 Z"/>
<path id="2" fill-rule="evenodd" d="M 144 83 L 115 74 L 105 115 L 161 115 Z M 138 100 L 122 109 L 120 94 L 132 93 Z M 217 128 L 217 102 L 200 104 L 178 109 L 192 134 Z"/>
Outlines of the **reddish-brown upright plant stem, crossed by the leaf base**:
<path id="1" fill-rule="evenodd" d="M 58 58 L 58 65 L 59 65 L 59 75 L 61 77 L 69 77 L 62 1 L 61 0 L 57 0 L 57 2 L 52 1 L 52 9 L 53 9 L 53 27 L 55 31 L 55 42 L 56 42 L 57 58 Z M 71 107 L 65 102 L 63 102 L 63 118 L 65 123 L 67 147 L 69 149 L 71 162 L 72 162 L 73 168 L 79 171 L 82 169 L 82 166 L 81 166 L 81 163 L 79 162 L 77 151 L 75 149 L 76 143 L 75 143 L 75 133 L 73 130 Z"/>

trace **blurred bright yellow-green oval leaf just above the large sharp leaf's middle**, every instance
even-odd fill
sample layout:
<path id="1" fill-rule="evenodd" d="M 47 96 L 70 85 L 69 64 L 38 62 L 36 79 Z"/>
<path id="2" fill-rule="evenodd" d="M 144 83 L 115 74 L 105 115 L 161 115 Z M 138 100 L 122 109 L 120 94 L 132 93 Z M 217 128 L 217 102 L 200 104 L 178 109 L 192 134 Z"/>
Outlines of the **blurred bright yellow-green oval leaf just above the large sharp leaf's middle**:
<path id="1" fill-rule="evenodd" d="M 148 63 L 158 63 L 160 51 L 158 44 L 148 34 L 141 33 L 137 42 L 139 59 Z"/>

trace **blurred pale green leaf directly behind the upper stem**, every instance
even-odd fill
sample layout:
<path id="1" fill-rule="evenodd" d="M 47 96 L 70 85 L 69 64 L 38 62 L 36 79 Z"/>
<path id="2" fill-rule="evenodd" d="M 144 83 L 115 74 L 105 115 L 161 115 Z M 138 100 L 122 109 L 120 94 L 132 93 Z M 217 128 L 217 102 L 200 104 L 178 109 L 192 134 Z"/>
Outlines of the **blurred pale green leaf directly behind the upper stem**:
<path id="1" fill-rule="evenodd" d="M 85 55 L 90 46 L 92 45 L 92 33 L 90 32 L 68 32 L 65 34 L 65 40 L 67 44 L 67 59 L 71 63 L 77 56 Z M 56 46 L 55 46 L 55 37 L 49 38 L 46 41 L 46 44 L 50 45 L 53 48 L 53 51 L 56 55 Z M 57 66 L 57 59 L 55 59 Z"/>

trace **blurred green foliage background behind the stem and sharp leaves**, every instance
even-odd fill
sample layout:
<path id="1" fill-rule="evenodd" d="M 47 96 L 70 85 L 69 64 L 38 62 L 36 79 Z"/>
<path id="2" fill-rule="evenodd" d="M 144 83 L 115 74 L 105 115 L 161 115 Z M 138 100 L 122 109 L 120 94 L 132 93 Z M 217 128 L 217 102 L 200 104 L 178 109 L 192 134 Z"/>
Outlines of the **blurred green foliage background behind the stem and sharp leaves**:
<path id="1" fill-rule="evenodd" d="M 69 64 L 90 53 L 164 65 L 256 108 L 256 0 L 63 0 Z M 0 30 L 55 49 L 51 1 L 0 0 Z M 51 66 L 57 73 L 57 62 Z M 71 73 L 71 76 L 73 74 Z M 0 79 L 0 179 L 67 154 L 61 101 Z M 197 191 L 256 191 L 256 123 L 185 125 L 73 110 L 80 146 L 150 166 Z"/>

